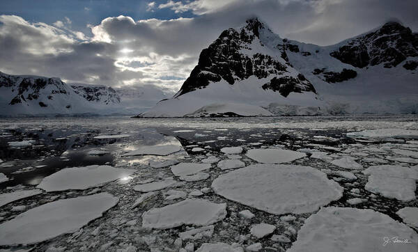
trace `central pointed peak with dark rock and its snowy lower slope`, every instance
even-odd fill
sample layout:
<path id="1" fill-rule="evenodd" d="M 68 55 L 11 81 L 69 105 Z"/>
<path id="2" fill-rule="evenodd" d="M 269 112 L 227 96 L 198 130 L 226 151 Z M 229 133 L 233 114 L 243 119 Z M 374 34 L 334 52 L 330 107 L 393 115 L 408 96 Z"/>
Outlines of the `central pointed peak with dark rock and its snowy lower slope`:
<path id="1" fill-rule="evenodd" d="M 314 86 L 282 57 L 279 41 L 258 19 L 223 31 L 203 49 L 178 93 L 141 116 L 270 116 L 261 106 L 273 102 L 293 105 L 295 113 L 318 113 L 322 102 Z"/>

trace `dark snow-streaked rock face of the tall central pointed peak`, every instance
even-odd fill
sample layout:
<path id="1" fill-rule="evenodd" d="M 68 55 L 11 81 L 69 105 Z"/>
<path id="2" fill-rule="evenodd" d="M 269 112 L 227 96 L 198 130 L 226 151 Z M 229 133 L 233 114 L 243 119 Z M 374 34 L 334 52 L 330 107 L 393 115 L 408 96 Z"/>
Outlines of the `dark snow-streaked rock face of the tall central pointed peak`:
<path id="1" fill-rule="evenodd" d="M 316 92 L 314 86 L 303 76 L 288 76 L 291 65 L 252 47 L 254 40 L 260 40 L 260 31 L 270 29 L 257 18 L 249 19 L 240 30 L 227 29 L 219 38 L 203 49 L 199 63 L 192 70 L 176 97 L 193 90 L 204 88 L 210 83 L 224 79 L 229 85 L 237 81 L 256 77 L 269 79 L 263 89 L 277 91 L 284 97 L 289 93 Z M 264 46 L 261 44 L 261 46 Z"/>

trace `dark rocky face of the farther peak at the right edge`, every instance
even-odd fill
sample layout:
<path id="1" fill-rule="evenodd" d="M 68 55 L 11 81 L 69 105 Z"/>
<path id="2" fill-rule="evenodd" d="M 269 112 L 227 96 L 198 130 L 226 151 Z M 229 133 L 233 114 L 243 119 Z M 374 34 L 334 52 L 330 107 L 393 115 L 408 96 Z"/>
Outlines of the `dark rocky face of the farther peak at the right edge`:
<path id="1" fill-rule="evenodd" d="M 349 40 L 330 54 L 343 63 L 356 68 L 383 63 L 384 68 L 394 68 L 408 57 L 418 56 L 418 33 L 398 22 L 388 22 L 377 31 Z M 404 68 L 417 67 L 411 61 Z"/>

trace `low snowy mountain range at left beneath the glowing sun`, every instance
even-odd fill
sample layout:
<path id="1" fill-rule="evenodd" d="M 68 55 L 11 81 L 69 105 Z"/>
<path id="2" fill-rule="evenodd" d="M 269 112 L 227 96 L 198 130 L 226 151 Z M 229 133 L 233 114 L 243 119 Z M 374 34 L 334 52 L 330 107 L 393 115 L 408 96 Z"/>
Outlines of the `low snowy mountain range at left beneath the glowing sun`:
<path id="1" fill-rule="evenodd" d="M 133 115 L 170 95 L 154 86 L 111 88 L 0 72 L 0 115 Z M 153 97 L 153 98 L 149 98 Z"/>

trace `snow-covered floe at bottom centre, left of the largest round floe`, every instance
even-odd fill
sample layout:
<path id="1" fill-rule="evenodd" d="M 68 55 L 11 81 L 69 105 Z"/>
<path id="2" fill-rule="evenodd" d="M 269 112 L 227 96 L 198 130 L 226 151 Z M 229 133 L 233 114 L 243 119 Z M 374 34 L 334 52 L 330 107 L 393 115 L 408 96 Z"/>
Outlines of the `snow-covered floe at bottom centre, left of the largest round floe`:
<path id="1" fill-rule="evenodd" d="M 145 228 L 175 228 L 182 225 L 207 226 L 224 219 L 226 203 L 187 199 L 161 208 L 153 208 L 142 214 Z"/>

